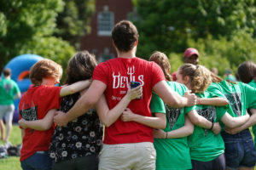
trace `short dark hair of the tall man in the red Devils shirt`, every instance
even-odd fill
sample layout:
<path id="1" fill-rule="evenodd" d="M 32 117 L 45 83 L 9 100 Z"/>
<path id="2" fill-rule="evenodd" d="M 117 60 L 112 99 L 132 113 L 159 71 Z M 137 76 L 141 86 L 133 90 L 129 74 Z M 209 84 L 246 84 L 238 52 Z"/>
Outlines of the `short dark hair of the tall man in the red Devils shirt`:
<path id="1" fill-rule="evenodd" d="M 139 35 L 136 26 L 129 20 L 121 20 L 113 27 L 113 43 L 119 51 L 127 52 L 133 48 Z"/>

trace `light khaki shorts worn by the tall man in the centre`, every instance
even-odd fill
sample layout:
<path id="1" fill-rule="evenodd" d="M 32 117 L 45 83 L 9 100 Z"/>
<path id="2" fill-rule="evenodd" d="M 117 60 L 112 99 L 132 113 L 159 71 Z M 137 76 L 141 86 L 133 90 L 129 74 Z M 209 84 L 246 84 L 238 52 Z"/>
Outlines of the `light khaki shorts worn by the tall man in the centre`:
<path id="1" fill-rule="evenodd" d="M 151 142 L 103 144 L 99 170 L 154 170 L 155 156 Z"/>

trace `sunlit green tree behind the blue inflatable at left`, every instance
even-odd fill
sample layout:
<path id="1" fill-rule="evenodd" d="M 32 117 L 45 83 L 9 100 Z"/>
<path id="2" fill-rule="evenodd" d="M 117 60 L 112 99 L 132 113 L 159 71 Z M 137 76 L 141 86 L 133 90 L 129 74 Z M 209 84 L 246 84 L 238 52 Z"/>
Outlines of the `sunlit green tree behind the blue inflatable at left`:
<path id="1" fill-rule="evenodd" d="M 52 37 L 61 0 L 0 1 L 0 69 L 19 54 L 38 54 L 60 64 L 74 54 L 74 48 L 61 38 Z"/>

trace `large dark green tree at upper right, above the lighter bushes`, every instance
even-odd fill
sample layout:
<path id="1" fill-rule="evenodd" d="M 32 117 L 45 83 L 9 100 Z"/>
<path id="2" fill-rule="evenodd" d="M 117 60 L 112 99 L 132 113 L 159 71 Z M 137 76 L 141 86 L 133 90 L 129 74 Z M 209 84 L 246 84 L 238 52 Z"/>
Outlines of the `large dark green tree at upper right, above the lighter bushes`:
<path id="1" fill-rule="evenodd" d="M 255 37 L 256 1 L 253 0 L 134 0 L 140 33 L 138 55 L 154 50 L 182 53 L 188 40 L 229 38 L 238 30 Z"/>

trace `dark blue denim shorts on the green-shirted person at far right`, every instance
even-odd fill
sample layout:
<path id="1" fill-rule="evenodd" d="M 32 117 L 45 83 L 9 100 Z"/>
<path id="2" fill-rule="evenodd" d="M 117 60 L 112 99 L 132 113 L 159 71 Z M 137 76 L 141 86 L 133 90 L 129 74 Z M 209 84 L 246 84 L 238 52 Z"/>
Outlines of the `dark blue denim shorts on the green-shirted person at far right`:
<path id="1" fill-rule="evenodd" d="M 256 164 L 256 150 L 249 129 L 240 133 L 229 134 L 222 132 L 225 144 L 226 165 L 230 169 L 238 167 L 254 167 Z"/>

